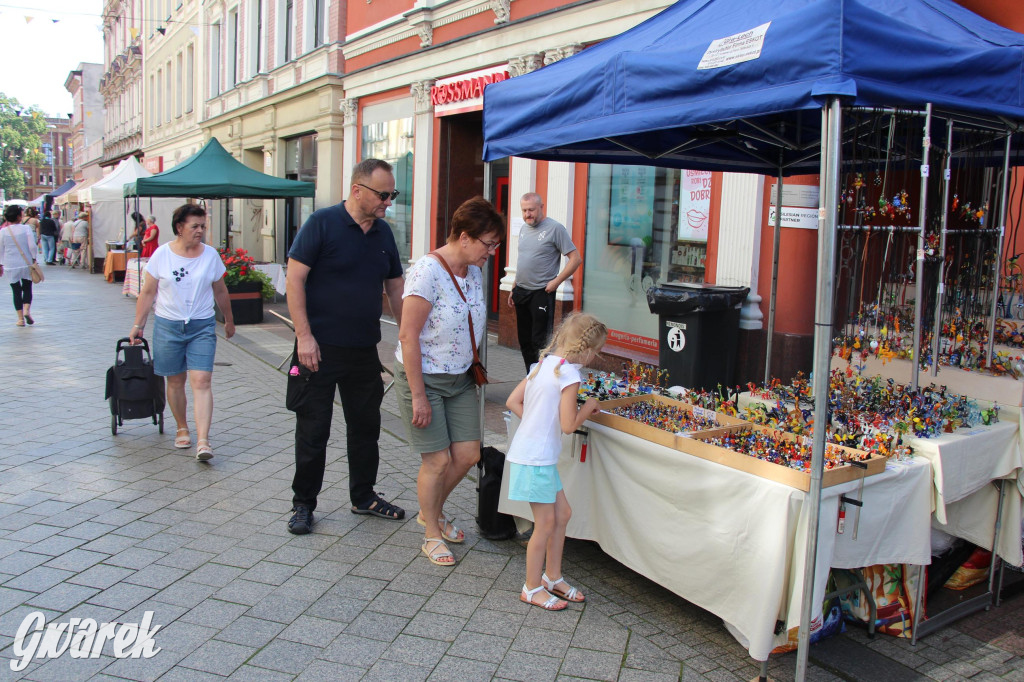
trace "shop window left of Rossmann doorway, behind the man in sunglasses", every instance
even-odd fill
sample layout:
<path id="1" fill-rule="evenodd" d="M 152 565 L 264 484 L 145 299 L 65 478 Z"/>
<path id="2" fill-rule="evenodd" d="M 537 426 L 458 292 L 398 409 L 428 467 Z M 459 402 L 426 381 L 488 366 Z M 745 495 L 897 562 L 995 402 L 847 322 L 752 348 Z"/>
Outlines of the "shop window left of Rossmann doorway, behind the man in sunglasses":
<path id="1" fill-rule="evenodd" d="M 404 261 L 413 255 L 413 146 L 411 116 L 362 126 L 361 159 L 383 159 L 391 164 L 395 189 L 401 193 L 388 207 L 384 219 L 391 225 L 398 255 Z"/>

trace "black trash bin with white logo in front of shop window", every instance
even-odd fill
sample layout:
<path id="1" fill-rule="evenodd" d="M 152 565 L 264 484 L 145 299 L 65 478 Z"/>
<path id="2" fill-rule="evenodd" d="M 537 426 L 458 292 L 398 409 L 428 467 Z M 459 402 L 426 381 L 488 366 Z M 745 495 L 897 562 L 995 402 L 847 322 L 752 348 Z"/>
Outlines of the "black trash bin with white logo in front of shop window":
<path id="1" fill-rule="evenodd" d="M 658 363 L 669 372 L 670 386 L 732 385 L 739 308 L 750 291 L 701 284 L 663 284 L 647 291 L 647 305 L 658 316 Z"/>

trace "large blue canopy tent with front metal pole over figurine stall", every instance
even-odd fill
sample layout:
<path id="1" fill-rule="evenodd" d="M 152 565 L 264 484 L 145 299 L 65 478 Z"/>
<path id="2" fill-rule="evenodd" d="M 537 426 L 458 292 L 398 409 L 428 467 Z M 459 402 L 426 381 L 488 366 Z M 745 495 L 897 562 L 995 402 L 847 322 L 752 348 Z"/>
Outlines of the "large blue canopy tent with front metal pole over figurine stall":
<path id="1" fill-rule="evenodd" d="M 924 140 L 932 139 L 933 119 L 944 119 L 948 131 L 945 145 L 937 135 L 903 150 L 923 166 L 933 146 L 954 156 L 957 126 L 998 137 L 973 160 L 1004 168 L 1002 225 L 1009 160 L 1019 154 L 1012 140 L 1024 122 L 1024 36 L 951 0 L 681 0 L 574 56 L 489 85 L 483 102 L 484 161 L 518 156 L 752 172 L 778 176 L 779 189 L 785 175 L 819 173 L 822 207 L 839 203 L 843 151 L 859 134 L 844 125 L 851 110 L 916 110 Z M 920 225 L 928 215 L 922 175 Z M 818 415 L 827 412 L 836 232 L 836 212 L 820 211 Z M 922 267 L 918 260 L 919 301 Z M 773 308 L 769 335 L 772 326 Z M 798 680 L 806 675 L 823 451 L 824 429 L 817 429 Z"/>

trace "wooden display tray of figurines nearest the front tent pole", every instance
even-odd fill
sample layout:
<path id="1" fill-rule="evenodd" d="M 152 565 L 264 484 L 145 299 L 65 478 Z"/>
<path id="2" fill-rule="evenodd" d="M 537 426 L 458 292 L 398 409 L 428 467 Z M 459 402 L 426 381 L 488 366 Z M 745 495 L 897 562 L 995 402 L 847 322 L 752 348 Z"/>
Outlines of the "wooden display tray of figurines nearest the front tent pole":
<path id="1" fill-rule="evenodd" d="M 752 428 L 755 431 L 771 431 L 773 433 L 781 433 L 782 437 L 787 440 L 797 440 L 801 437 L 794 433 L 781 432 L 778 429 L 771 429 L 764 426 L 758 426 L 756 424 L 744 424 L 726 426 L 720 429 L 715 429 L 714 431 L 702 431 L 694 434 L 693 437 L 680 436 L 678 450 L 686 453 L 687 455 L 693 455 L 694 457 L 699 457 L 703 460 L 710 460 L 712 462 L 717 462 L 718 464 L 723 464 L 732 469 L 738 469 L 740 471 L 745 471 L 746 473 L 752 473 L 756 476 L 761 476 L 762 478 L 774 480 L 776 482 L 804 491 L 805 493 L 811 489 L 811 475 L 809 473 L 797 471 L 796 469 L 791 469 L 780 464 L 774 464 L 765 460 L 759 460 L 756 457 L 736 453 L 731 450 L 726 450 L 725 447 L 719 447 L 718 445 L 713 445 L 701 440 L 701 438 L 715 438 L 729 432 L 737 431 L 741 428 Z M 850 453 L 863 452 L 852 447 L 846 447 L 845 445 L 833 446 L 841 447 L 842 450 Z M 864 463 L 867 465 L 866 470 L 849 464 L 835 469 L 825 469 L 821 476 L 821 486 L 830 487 L 833 485 L 846 483 L 851 480 L 857 480 L 861 476 L 866 478 L 867 476 L 880 474 L 885 471 L 887 460 L 888 458 L 881 455 L 872 455 L 867 460 L 864 460 Z"/>

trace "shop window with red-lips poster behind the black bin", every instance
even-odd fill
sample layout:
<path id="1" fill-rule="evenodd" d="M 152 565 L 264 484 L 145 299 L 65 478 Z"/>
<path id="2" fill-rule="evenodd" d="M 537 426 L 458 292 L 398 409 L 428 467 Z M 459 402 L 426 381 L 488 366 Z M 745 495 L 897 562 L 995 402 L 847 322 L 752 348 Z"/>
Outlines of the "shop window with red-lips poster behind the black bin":
<path id="1" fill-rule="evenodd" d="M 710 198 L 710 177 L 687 173 L 692 171 L 590 165 L 583 308 L 611 329 L 656 339 L 647 290 L 703 281 L 708 202 L 694 208 L 692 200 L 703 195 L 690 188 L 699 184 Z"/>

